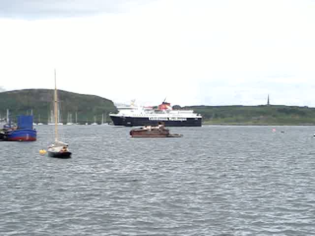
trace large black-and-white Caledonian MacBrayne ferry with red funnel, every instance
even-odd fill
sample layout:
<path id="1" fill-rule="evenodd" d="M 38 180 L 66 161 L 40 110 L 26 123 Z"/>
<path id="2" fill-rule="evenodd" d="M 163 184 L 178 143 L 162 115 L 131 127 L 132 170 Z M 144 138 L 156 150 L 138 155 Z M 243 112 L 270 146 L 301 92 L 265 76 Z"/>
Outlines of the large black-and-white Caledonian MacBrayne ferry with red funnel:
<path id="1" fill-rule="evenodd" d="M 117 114 L 109 114 L 114 125 L 121 126 L 201 126 L 202 117 L 192 110 L 173 110 L 171 104 L 163 102 L 158 107 L 125 106 L 117 107 Z"/>

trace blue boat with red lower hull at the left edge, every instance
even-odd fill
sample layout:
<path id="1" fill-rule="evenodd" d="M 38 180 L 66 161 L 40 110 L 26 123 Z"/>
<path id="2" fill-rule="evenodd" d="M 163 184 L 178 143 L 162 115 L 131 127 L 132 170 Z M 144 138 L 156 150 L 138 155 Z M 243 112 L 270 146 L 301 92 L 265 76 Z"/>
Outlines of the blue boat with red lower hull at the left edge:
<path id="1" fill-rule="evenodd" d="M 3 126 L 4 141 L 36 141 L 37 131 L 33 128 L 33 116 L 17 116 L 17 126 L 10 119 Z"/>

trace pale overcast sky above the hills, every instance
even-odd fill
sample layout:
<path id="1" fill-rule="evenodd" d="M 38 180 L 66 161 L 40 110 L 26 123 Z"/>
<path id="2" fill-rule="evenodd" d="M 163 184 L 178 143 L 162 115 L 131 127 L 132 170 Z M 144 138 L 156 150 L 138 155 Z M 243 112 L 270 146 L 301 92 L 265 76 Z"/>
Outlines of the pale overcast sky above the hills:
<path id="1" fill-rule="evenodd" d="M 315 0 L 0 0 L 0 90 L 315 107 Z"/>

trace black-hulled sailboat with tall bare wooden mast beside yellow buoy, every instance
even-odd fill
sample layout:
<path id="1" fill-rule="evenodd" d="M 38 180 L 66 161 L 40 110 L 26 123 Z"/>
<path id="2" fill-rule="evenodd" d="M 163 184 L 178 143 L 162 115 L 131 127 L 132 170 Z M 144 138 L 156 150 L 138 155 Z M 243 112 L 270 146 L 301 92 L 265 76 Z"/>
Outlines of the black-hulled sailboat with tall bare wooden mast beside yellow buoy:
<path id="1" fill-rule="evenodd" d="M 50 157 L 58 157 L 58 158 L 70 158 L 71 152 L 68 149 L 68 145 L 58 140 L 58 96 L 57 96 L 57 86 L 56 86 L 56 70 L 55 70 L 55 94 L 54 94 L 54 109 L 55 109 L 55 142 L 49 146 L 48 155 Z"/>

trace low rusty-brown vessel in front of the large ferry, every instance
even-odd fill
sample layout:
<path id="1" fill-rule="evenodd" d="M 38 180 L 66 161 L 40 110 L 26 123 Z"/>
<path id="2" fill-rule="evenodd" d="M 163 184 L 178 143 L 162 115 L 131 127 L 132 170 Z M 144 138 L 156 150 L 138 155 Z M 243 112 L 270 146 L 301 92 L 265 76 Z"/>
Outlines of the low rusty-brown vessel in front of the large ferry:
<path id="1" fill-rule="evenodd" d="M 130 131 L 132 138 L 180 138 L 182 134 L 170 134 L 163 124 L 157 126 L 147 125 Z"/>

